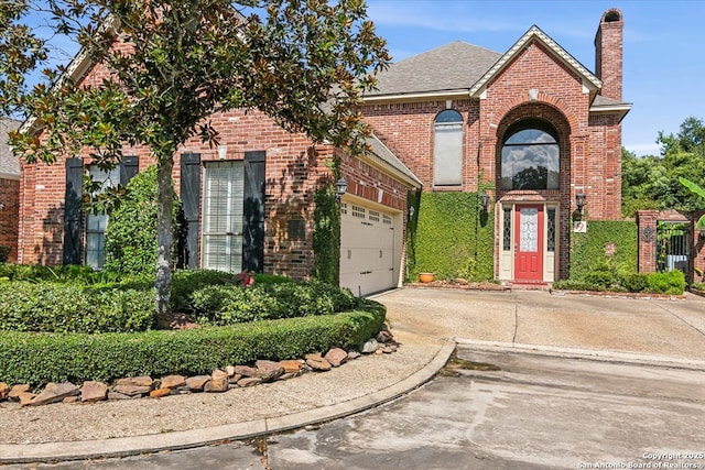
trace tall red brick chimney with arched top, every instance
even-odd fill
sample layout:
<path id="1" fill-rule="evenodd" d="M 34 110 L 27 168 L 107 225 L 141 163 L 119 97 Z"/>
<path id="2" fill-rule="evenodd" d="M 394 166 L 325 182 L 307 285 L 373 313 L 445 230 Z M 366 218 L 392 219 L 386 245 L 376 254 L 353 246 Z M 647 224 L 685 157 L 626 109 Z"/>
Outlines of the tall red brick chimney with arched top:
<path id="1" fill-rule="evenodd" d="M 622 30 L 621 11 L 607 10 L 595 34 L 595 75 L 603 80 L 600 95 L 621 101 Z"/>

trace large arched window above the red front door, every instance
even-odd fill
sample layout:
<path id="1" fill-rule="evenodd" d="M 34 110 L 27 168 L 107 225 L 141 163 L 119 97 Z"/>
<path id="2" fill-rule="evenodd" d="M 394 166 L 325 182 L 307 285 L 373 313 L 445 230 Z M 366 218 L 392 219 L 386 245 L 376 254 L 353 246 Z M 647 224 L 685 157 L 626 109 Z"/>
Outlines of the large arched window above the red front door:
<path id="1" fill-rule="evenodd" d="M 501 188 L 558 189 L 560 151 L 555 130 L 543 121 L 522 121 L 505 134 Z"/>

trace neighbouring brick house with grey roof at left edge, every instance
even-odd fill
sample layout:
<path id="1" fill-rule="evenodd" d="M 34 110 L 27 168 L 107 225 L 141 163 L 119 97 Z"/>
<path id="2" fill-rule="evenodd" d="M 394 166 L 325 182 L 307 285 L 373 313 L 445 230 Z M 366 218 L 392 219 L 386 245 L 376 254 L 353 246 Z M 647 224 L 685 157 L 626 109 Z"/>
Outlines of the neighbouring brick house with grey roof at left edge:
<path id="1" fill-rule="evenodd" d="M 8 132 L 21 122 L 0 118 L 0 250 L 10 250 L 8 261 L 17 261 L 20 197 L 20 161 L 8 146 Z"/>

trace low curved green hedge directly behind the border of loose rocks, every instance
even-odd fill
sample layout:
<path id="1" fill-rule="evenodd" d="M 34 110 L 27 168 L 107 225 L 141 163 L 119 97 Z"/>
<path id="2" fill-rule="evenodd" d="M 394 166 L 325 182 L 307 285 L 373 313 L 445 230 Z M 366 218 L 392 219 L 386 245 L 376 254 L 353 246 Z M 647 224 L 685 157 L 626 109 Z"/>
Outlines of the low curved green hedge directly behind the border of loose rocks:
<path id="1" fill-rule="evenodd" d="M 207 374 L 257 359 L 294 359 L 336 346 L 359 346 L 381 328 L 384 315 L 382 305 L 365 300 L 351 313 L 230 327 L 106 335 L 3 332 L 0 381 L 41 385 Z"/>

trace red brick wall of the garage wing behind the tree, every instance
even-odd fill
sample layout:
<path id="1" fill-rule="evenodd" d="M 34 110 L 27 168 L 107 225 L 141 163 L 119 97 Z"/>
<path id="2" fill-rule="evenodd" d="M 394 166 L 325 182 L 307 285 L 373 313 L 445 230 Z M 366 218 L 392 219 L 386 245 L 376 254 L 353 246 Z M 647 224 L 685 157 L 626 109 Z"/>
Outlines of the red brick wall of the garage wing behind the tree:
<path id="1" fill-rule="evenodd" d="M 250 151 L 264 151 L 265 157 L 265 223 L 264 272 L 308 277 L 313 269 L 313 193 L 332 182 L 325 161 L 334 156 L 329 145 L 313 145 L 301 134 L 292 134 L 256 110 L 218 113 L 212 122 L 219 132 L 220 144 L 227 145 L 227 161 L 245 159 Z M 139 157 L 140 171 L 154 163 L 148 149 L 124 147 L 126 155 Z M 194 138 L 178 149 L 173 176 L 180 189 L 180 155 L 199 153 L 203 165 L 218 161 L 218 150 Z M 357 159 L 336 153 L 341 159 L 341 172 L 351 182 L 356 195 L 405 210 L 406 189 L 399 182 Z M 90 161 L 84 155 L 85 164 Z M 65 160 L 53 165 L 23 165 L 24 177 L 21 262 L 58 264 L 62 262 L 63 217 L 65 193 Z M 200 188 L 203 192 L 203 187 Z M 382 198 L 380 199 L 380 190 Z M 305 237 L 290 239 L 289 221 L 304 220 Z"/>

